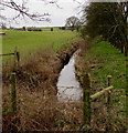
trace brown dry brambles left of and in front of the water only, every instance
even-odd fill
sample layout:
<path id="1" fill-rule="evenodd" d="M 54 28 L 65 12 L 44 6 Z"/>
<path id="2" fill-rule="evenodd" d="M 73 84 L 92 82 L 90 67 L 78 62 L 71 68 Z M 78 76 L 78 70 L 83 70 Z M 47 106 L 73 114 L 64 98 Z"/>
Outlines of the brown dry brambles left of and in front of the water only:
<path id="1" fill-rule="evenodd" d="M 38 51 L 34 57 L 14 69 L 17 73 L 18 112 L 11 112 L 10 73 L 3 68 L 3 132 L 18 131 L 74 131 L 83 123 L 82 103 L 58 103 L 56 82 L 65 62 L 78 43 L 54 53 Z M 14 131 L 12 131 L 14 132 Z"/>

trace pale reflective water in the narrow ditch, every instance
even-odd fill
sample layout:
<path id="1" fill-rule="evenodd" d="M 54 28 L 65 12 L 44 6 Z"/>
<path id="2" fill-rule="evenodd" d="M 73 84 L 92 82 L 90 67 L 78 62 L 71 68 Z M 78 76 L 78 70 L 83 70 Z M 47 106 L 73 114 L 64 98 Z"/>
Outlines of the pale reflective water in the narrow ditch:
<path id="1" fill-rule="evenodd" d="M 66 64 L 57 81 L 57 99 L 60 102 L 81 101 L 83 90 L 75 76 L 75 58 L 79 51 L 76 51 Z"/>

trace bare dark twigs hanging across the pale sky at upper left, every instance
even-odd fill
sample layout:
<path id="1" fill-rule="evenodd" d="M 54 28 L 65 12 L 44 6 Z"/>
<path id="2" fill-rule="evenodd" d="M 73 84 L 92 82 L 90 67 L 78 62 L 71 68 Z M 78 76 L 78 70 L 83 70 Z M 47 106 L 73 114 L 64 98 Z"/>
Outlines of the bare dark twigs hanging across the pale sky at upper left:
<path id="1" fill-rule="evenodd" d="M 57 0 L 41 0 L 44 4 L 55 4 L 57 8 L 61 8 L 57 4 Z M 18 18 L 29 18 L 33 21 L 50 21 L 49 13 L 39 13 L 39 12 L 31 12 L 28 6 L 29 0 L 0 0 L 0 20 L 9 21 L 9 20 L 17 20 Z M 3 16 L 3 11 L 12 9 L 17 11 L 17 16 L 13 18 Z"/>

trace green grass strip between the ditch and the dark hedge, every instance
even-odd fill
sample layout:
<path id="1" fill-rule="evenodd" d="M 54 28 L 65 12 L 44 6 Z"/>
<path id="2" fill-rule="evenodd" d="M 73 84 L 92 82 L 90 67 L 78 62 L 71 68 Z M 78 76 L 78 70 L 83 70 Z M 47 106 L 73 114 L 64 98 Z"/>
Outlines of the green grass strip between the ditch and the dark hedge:
<path id="1" fill-rule="evenodd" d="M 85 55 L 84 62 L 95 65 L 89 70 L 94 88 L 107 88 L 107 75 L 111 75 L 111 101 L 114 105 L 122 106 L 120 113 L 125 115 L 126 93 L 126 57 L 113 44 L 106 41 L 94 43 Z"/>

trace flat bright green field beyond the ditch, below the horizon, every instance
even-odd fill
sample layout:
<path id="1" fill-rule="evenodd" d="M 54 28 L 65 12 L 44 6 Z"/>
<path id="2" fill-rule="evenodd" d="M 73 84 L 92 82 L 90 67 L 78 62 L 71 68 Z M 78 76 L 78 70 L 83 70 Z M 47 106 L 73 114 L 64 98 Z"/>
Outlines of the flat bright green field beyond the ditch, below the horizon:
<path id="1" fill-rule="evenodd" d="M 3 32 L 7 34 L 2 37 L 2 53 L 11 53 L 17 47 L 22 59 L 41 49 L 52 48 L 54 51 L 58 51 L 78 39 L 76 32 L 61 30 L 52 32 L 4 30 Z"/>

